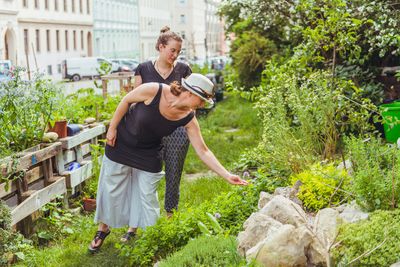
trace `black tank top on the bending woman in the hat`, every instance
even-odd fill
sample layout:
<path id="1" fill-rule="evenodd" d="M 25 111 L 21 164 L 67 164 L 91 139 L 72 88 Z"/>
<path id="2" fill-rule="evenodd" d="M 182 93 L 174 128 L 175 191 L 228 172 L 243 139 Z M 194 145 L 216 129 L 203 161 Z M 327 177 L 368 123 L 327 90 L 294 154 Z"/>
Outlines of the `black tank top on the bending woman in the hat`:
<path id="1" fill-rule="evenodd" d="M 183 119 L 171 121 L 161 115 L 162 90 L 160 84 L 150 104 L 139 102 L 129 108 L 118 124 L 115 146 L 106 146 L 105 154 L 109 159 L 143 171 L 161 171 L 161 139 L 194 117 L 191 112 Z"/>

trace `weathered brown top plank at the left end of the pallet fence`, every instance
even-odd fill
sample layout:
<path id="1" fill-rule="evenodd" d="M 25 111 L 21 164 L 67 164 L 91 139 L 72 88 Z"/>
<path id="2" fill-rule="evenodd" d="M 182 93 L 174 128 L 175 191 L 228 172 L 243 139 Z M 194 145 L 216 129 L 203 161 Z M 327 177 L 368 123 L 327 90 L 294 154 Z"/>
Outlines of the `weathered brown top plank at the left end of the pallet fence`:
<path id="1" fill-rule="evenodd" d="M 44 146 L 44 147 L 43 147 Z M 11 157 L 7 157 L 5 159 L 2 159 L 0 162 L 0 172 L 2 173 L 3 176 L 8 176 L 12 172 L 19 172 L 22 170 L 27 170 L 31 166 L 42 162 L 46 159 L 49 159 L 51 157 L 54 157 L 58 153 L 61 152 L 61 142 L 55 142 L 50 145 L 45 145 L 45 144 L 40 144 L 40 147 L 43 147 L 42 149 L 32 151 L 32 152 L 27 152 L 31 151 L 31 149 L 25 150 L 25 152 L 21 152 L 23 156 L 18 158 L 18 165 L 13 168 L 13 159 Z M 39 147 L 39 148 L 40 148 Z M 38 148 L 38 146 L 35 146 L 34 149 Z M 22 155 L 19 154 L 19 155 Z"/>

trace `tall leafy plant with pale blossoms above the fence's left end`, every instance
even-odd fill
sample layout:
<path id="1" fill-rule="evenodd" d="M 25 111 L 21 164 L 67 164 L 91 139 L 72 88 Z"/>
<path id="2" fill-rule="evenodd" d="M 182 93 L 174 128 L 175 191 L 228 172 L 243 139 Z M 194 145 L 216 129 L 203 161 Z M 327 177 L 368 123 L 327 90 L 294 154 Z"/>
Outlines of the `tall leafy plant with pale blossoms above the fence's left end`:
<path id="1" fill-rule="evenodd" d="M 60 105 L 59 90 L 50 80 L 36 75 L 26 81 L 22 68 L 13 75 L 0 83 L 0 151 L 18 152 L 41 142 Z"/>

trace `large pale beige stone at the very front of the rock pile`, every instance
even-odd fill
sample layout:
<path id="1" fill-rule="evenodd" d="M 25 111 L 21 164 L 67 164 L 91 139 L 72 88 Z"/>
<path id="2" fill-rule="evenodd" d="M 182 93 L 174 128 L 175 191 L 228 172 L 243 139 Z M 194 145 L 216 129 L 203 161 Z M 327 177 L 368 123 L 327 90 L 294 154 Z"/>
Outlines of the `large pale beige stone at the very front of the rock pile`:
<path id="1" fill-rule="evenodd" d="M 304 250 L 312 241 L 305 226 L 296 228 L 286 224 L 247 251 L 248 259 L 256 259 L 262 266 L 307 266 Z"/>

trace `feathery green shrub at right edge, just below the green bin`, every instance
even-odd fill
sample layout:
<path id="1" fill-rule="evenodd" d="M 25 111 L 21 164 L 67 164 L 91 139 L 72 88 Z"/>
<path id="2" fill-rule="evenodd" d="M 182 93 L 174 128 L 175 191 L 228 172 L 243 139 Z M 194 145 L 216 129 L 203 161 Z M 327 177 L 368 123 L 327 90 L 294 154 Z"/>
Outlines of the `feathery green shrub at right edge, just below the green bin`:
<path id="1" fill-rule="evenodd" d="M 353 189 L 358 204 L 367 210 L 389 209 L 400 201 L 400 151 L 371 137 L 348 138 L 346 147 L 352 162 Z"/>

